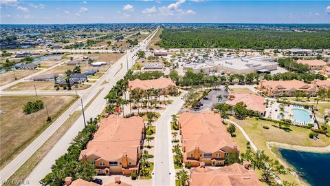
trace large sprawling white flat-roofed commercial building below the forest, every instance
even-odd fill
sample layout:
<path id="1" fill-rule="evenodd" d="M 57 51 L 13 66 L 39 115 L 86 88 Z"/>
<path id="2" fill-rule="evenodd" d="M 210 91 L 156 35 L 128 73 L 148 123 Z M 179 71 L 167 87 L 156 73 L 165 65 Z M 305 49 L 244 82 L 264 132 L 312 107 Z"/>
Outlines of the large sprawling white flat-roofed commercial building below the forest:
<path id="1" fill-rule="evenodd" d="M 207 61 L 208 65 L 217 67 L 217 71 L 225 71 L 227 74 L 249 74 L 252 72 L 270 73 L 277 70 L 276 63 L 257 61 L 248 58 L 222 59 L 218 61 Z"/>

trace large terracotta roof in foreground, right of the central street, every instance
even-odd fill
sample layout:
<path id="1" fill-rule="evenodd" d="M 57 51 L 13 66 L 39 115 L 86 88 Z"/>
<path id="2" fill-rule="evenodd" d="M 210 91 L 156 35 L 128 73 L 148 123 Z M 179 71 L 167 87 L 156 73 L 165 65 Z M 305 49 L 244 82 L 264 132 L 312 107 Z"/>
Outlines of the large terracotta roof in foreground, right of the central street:
<path id="1" fill-rule="evenodd" d="M 237 147 L 226 131 L 221 116 L 212 111 L 185 112 L 180 115 L 179 123 L 186 152 L 190 152 L 196 147 L 204 152 L 216 152 L 226 146 Z"/>

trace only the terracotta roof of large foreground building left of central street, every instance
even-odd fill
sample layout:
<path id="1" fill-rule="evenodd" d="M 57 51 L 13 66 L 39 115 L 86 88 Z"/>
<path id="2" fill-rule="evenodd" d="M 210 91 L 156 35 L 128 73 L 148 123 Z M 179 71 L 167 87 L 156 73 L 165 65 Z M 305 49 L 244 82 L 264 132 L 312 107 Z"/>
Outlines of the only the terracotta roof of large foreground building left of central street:
<path id="1" fill-rule="evenodd" d="M 113 114 L 104 118 L 100 121 L 100 127 L 94 139 L 89 141 L 87 148 L 80 152 L 79 159 L 86 155 L 115 161 L 127 155 L 135 161 L 143 129 L 143 118 L 139 116 L 122 118 Z"/>

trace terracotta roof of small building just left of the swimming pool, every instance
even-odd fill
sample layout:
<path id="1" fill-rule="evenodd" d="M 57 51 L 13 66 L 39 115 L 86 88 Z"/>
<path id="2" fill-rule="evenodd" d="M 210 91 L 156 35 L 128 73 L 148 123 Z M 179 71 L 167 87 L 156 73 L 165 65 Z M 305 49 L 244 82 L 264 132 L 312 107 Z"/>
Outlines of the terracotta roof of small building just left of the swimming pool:
<path id="1" fill-rule="evenodd" d="M 264 105 L 265 98 L 263 96 L 255 94 L 230 94 L 227 101 L 229 105 L 235 105 L 239 102 L 245 103 L 248 110 L 264 112 L 266 109 L 266 105 Z"/>

